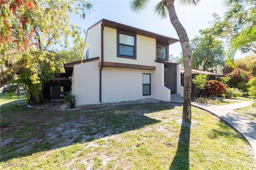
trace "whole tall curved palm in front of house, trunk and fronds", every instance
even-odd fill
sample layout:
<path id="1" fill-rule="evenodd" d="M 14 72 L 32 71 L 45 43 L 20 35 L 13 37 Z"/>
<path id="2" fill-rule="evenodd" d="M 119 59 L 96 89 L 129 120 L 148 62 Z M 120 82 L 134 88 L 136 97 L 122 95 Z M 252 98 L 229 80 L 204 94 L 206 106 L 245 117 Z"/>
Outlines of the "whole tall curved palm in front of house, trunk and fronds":
<path id="1" fill-rule="evenodd" d="M 154 8 L 160 18 L 166 18 L 169 14 L 170 21 L 180 39 L 184 64 L 184 98 L 182 120 L 191 121 L 191 69 L 192 51 L 186 30 L 180 23 L 174 7 L 175 0 L 162 0 Z M 197 5 L 200 0 L 178 0 L 182 5 Z M 142 12 L 150 3 L 150 0 L 132 0 L 130 9 L 134 12 Z"/>

